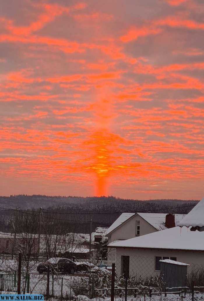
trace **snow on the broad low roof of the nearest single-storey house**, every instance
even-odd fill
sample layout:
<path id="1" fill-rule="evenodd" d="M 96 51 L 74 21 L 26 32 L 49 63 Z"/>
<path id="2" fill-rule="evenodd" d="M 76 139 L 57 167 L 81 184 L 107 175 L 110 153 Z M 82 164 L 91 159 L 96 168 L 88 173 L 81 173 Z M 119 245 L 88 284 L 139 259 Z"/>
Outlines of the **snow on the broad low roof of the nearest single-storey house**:
<path id="1" fill-rule="evenodd" d="M 204 250 L 204 232 L 174 227 L 109 244 L 109 247 Z"/>

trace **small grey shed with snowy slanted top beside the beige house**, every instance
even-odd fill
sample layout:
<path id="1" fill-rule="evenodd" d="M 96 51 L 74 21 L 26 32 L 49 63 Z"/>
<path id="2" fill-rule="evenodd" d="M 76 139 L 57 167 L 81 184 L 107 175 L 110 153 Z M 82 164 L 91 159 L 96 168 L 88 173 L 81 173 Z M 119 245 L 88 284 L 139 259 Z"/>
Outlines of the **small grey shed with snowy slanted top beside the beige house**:
<path id="1" fill-rule="evenodd" d="M 189 264 L 170 259 L 160 260 L 161 276 L 165 282 L 165 287 L 186 287 L 187 268 Z"/>

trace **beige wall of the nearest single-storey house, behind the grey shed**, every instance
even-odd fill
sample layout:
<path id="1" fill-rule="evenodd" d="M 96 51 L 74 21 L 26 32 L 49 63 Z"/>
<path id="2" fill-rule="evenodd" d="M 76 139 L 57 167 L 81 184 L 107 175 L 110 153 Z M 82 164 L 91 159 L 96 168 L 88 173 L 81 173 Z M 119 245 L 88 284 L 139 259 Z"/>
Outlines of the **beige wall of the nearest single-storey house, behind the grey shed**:
<path id="1" fill-rule="evenodd" d="M 143 278 L 159 275 L 155 272 L 155 256 L 176 257 L 177 261 L 191 265 L 203 265 L 204 252 L 184 251 L 167 249 L 142 249 L 142 248 L 117 248 L 116 250 L 116 273 L 121 275 L 121 256 L 130 256 L 130 275 L 140 275 Z M 190 270 L 189 267 L 188 269 Z"/>

